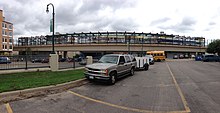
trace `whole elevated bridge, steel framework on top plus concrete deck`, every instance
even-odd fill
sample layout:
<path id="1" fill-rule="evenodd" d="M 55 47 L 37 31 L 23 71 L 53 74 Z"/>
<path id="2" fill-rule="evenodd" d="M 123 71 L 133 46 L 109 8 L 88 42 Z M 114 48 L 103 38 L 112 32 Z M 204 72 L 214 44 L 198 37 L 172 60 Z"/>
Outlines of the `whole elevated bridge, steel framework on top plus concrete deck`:
<path id="1" fill-rule="evenodd" d="M 147 51 L 165 51 L 166 57 L 174 54 L 196 55 L 205 52 L 205 38 L 185 37 L 161 33 L 136 32 L 81 32 L 56 34 L 55 51 L 61 57 L 72 57 L 76 52 L 97 57 L 107 53 L 123 52 L 136 55 Z M 20 37 L 14 47 L 19 54 L 50 54 L 52 36 Z"/>

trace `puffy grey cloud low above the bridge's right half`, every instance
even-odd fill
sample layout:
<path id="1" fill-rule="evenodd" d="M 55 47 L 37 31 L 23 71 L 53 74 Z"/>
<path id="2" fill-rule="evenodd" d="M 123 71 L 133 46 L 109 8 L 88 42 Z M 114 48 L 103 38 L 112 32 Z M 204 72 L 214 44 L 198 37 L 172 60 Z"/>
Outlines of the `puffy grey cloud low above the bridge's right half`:
<path id="1" fill-rule="evenodd" d="M 187 32 L 187 31 L 192 31 L 194 30 L 194 25 L 196 24 L 196 20 L 194 20 L 193 18 L 190 17 L 185 17 L 182 19 L 182 21 L 180 23 L 177 23 L 175 25 L 171 25 L 171 26 L 159 26 L 160 29 L 163 30 L 173 30 L 176 32 Z"/>

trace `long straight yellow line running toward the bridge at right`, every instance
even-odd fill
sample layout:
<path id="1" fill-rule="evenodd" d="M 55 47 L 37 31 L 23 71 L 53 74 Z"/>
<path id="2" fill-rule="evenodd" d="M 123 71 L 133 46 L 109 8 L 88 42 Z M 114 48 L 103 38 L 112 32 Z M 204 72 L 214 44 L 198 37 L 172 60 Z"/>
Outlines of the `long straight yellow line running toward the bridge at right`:
<path id="1" fill-rule="evenodd" d="M 181 97 L 181 100 L 183 102 L 183 105 L 184 105 L 184 108 L 185 108 L 186 112 L 191 112 L 190 109 L 189 109 L 188 103 L 186 101 L 186 98 L 184 97 L 184 95 L 183 95 L 183 93 L 182 93 L 182 91 L 181 91 L 181 89 L 180 89 L 180 87 L 179 87 L 179 85 L 178 85 L 174 75 L 173 75 L 173 72 L 171 71 L 170 66 L 167 64 L 167 62 L 166 62 L 166 65 L 167 65 L 167 68 L 168 68 L 172 78 L 173 78 L 173 82 L 174 82 L 174 84 L 176 86 L 176 89 L 177 89 L 177 91 L 178 91 L 178 93 L 179 93 L 179 95 Z"/>

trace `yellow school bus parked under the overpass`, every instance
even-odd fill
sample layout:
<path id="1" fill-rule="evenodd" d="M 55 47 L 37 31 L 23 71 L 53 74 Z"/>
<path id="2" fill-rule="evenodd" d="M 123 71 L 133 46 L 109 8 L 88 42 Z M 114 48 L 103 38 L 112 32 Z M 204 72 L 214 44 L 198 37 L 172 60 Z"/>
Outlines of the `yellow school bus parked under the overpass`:
<path id="1" fill-rule="evenodd" d="M 165 52 L 164 51 L 147 51 L 147 55 L 152 55 L 154 57 L 154 61 L 164 61 L 165 60 Z"/>

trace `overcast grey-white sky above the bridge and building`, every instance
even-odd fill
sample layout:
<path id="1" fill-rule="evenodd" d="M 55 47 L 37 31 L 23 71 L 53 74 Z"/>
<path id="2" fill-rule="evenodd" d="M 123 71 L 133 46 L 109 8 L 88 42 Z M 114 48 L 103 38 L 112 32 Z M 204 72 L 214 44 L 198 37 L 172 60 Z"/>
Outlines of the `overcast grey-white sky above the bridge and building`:
<path id="1" fill-rule="evenodd" d="M 14 37 L 55 32 L 135 31 L 220 39 L 220 0 L 0 0 Z"/>

